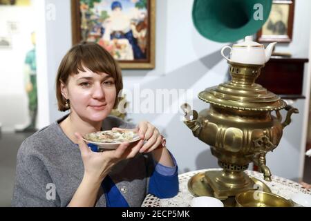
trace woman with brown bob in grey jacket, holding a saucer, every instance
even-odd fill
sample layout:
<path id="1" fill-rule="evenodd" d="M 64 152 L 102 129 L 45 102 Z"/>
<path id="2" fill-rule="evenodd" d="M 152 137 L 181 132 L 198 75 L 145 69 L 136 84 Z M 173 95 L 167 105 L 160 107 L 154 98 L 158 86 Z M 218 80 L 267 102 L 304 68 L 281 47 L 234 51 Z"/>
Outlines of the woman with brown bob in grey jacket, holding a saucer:
<path id="1" fill-rule="evenodd" d="M 140 206 L 147 193 L 178 193 L 176 160 L 158 129 L 109 116 L 122 90 L 109 52 L 97 44 L 74 46 L 62 59 L 56 86 L 59 111 L 70 113 L 21 144 L 13 206 Z M 82 140 L 112 128 L 133 128 L 141 140 L 102 153 Z"/>

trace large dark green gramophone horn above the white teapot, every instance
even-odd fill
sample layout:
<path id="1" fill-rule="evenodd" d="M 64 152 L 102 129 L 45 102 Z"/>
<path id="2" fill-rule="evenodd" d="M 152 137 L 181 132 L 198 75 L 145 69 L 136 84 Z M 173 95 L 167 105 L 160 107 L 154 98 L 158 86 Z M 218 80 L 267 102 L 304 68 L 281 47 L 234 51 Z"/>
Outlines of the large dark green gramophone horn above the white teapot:
<path id="1" fill-rule="evenodd" d="M 256 33 L 269 17 L 271 7 L 272 0 L 194 0 L 192 19 L 203 37 L 232 42 Z"/>

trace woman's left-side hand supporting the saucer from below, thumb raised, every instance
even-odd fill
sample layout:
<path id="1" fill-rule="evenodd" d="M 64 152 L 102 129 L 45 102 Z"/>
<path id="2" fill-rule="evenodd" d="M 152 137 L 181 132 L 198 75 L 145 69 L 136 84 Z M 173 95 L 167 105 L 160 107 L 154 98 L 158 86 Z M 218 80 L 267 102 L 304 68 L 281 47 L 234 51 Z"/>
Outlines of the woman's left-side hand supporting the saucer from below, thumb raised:
<path id="1" fill-rule="evenodd" d="M 84 164 L 84 177 L 95 182 L 95 184 L 101 183 L 117 162 L 135 157 L 144 143 L 143 140 L 132 145 L 129 145 L 129 142 L 123 142 L 115 150 L 97 153 L 91 151 L 79 133 L 75 133 L 75 136 Z"/>

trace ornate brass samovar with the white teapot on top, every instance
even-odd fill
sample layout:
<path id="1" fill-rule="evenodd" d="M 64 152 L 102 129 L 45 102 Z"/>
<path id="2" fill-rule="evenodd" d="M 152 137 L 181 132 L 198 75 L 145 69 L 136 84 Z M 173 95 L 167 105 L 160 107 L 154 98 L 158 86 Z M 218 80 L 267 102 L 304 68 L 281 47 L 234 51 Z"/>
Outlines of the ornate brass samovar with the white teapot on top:
<path id="1" fill-rule="evenodd" d="M 265 50 L 251 37 L 245 37 L 245 42 L 231 48 L 231 59 L 223 55 L 226 46 L 222 55 L 228 60 L 231 81 L 199 93 L 198 97 L 210 104 L 199 114 L 188 104 L 182 106 L 185 124 L 195 137 L 211 146 L 211 154 L 223 169 L 207 171 L 201 180 L 220 200 L 254 189 L 254 179 L 244 172 L 251 162 L 266 181 L 271 181 L 265 155 L 278 146 L 292 113 L 298 113 L 279 96 L 255 83 L 273 46 Z M 288 111 L 283 122 L 281 109 Z"/>

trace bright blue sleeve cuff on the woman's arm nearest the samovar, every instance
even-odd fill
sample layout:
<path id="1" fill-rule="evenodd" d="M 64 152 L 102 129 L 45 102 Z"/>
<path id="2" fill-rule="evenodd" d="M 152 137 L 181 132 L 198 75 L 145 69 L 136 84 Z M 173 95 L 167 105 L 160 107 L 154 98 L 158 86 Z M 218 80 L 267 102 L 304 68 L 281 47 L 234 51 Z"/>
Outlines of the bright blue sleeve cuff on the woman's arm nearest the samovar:
<path id="1" fill-rule="evenodd" d="M 172 154 L 171 157 L 175 166 L 164 166 L 156 162 L 156 169 L 149 180 L 149 193 L 160 199 L 173 198 L 179 191 L 178 165 Z"/>

